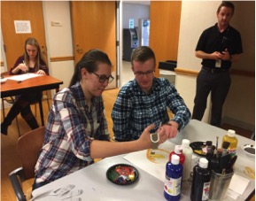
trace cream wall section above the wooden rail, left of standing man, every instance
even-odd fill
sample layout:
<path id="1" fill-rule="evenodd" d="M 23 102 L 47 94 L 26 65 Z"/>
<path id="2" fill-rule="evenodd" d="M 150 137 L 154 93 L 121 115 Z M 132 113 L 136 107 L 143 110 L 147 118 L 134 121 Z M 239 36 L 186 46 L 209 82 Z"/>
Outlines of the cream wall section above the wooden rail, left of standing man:
<path id="1" fill-rule="evenodd" d="M 177 67 L 200 70 L 201 59 L 195 57 L 198 38 L 206 27 L 216 23 L 216 10 L 221 1 L 182 1 Z"/>

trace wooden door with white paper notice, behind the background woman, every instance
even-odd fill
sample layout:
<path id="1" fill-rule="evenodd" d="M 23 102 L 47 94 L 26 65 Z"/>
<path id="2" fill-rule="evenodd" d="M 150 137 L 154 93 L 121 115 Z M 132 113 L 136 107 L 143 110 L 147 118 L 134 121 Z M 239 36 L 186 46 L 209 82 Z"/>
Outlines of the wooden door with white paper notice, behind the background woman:
<path id="1" fill-rule="evenodd" d="M 17 34 L 14 20 L 28 20 L 31 33 Z M 7 62 L 4 65 L 7 66 L 8 70 L 12 68 L 16 59 L 24 53 L 24 43 L 28 37 L 35 37 L 47 60 L 42 1 L 2 1 L 1 22 Z"/>

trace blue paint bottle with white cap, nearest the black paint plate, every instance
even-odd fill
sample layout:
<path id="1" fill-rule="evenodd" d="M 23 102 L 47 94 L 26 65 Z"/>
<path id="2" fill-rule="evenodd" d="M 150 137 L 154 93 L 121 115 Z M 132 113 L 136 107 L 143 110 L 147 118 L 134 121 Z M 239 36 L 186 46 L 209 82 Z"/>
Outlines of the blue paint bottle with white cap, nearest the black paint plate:
<path id="1" fill-rule="evenodd" d="M 180 157 L 172 155 L 171 161 L 167 162 L 166 181 L 164 196 L 168 201 L 178 201 L 182 191 L 182 164 Z"/>

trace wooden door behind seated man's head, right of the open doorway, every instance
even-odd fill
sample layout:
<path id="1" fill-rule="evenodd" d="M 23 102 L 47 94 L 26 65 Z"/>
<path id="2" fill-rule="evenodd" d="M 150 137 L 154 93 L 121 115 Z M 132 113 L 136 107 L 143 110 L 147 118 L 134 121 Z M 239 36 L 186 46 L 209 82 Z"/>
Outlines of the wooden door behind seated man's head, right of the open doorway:
<path id="1" fill-rule="evenodd" d="M 182 1 L 151 1 L 150 47 L 159 61 L 177 60 Z M 159 69 L 156 71 L 159 77 Z"/>

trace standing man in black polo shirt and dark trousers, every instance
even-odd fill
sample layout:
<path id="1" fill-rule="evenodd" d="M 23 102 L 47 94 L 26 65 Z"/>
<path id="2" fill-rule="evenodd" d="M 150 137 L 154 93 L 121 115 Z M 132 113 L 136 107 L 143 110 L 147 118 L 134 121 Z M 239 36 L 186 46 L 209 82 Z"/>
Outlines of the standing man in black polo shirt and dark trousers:
<path id="1" fill-rule="evenodd" d="M 196 57 L 202 58 L 202 69 L 198 73 L 192 119 L 202 120 L 211 92 L 210 123 L 216 127 L 221 126 L 222 105 L 231 84 L 229 68 L 243 53 L 241 36 L 229 25 L 234 11 L 234 4 L 222 2 L 217 10 L 218 22 L 202 33 L 196 48 Z"/>

